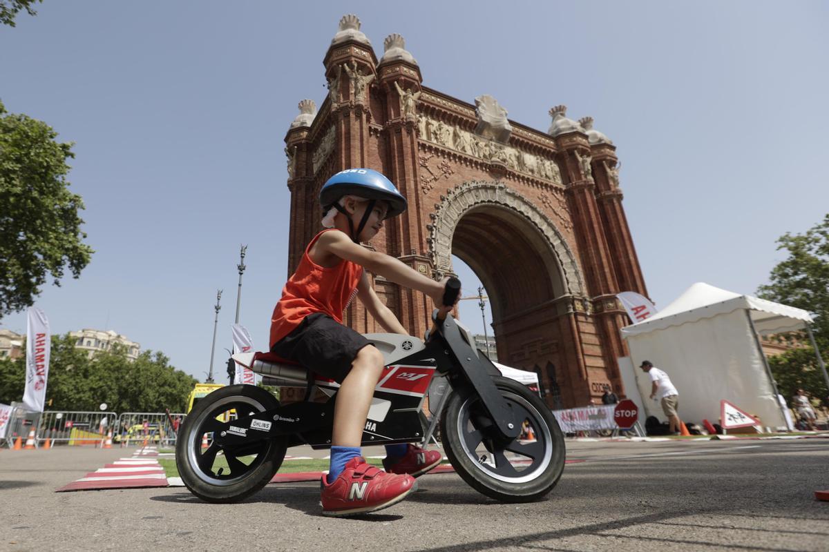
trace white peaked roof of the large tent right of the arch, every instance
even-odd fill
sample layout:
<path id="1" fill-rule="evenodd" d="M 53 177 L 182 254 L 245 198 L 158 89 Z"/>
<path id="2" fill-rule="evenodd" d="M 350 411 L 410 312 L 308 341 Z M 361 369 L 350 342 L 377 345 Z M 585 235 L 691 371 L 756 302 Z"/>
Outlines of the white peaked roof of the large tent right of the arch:
<path id="1" fill-rule="evenodd" d="M 760 334 L 791 332 L 803 329 L 812 322 L 812 315 L 805 310 L 697 282 L 651 318 L 624 327 L 622 335 L 628 338 L 647 334 L 738 309 L 749 310 L 754 327 Z"/>

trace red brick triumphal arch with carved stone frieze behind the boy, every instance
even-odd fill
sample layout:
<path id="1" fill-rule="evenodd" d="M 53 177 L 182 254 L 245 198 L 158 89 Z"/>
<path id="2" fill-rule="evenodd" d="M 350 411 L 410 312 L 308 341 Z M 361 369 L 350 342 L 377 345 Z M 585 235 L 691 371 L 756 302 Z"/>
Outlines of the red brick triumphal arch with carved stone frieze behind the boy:
<path id="1" fill-rule="evenodd" d="M 536 371 L 550 406 L 584 406 L 604 385 L 623 392 L 616 358 L 627 317 L 615 294 L 647 295 L 618 187 L 612 142 L 550 109 L 548 132 L 507 119 L 492 97 L 470 104 L 429 89 L 403 38 L 381 60 L 354 16 L 323 60 L 328 94 L 309 99 L 285 138 L 291 224 L 288 271 L 320 227 L 322 184 L 339 170 L 380 170 L 409 200 L 371 242 L 428 276 L 466 262 L 486 286 L 498 358 Z M 428 298 L 376 276 L 375 289 L 413 335 Z M 361 305 L 344 321 L 383 331 Z"/>

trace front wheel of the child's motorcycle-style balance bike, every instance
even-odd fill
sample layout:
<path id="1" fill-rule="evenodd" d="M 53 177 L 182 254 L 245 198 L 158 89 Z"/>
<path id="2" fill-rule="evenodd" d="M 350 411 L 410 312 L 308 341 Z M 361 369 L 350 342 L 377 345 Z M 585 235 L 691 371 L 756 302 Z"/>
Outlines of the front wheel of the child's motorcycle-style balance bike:
<path id="1" fill-rule="evenodd" d="M 527 420 L 536 441 L 499 442 L 478 396 L 453 393 L 440 420 L 444 450 L 463 481 L 487 497 L 500 502 L 539 500 L 564 471 L 564 435 L 539 396 L 506 377 L 492 380 L 516 412 L 518 423 Z M 507 452 L 530 458 L 529 463 L 507 458 Z"/>

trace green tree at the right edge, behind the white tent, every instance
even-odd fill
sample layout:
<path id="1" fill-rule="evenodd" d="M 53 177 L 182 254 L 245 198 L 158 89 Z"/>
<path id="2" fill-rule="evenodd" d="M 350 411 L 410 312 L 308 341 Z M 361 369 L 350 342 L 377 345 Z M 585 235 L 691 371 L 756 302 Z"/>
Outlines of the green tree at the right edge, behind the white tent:
<path id="1" fill-rule="evenodd" d="M 772 269 L 769 283 L 759 286 L 764 299 L 807 310 L 814 315 L 812 333 L 824 362 L 829 353 L 829 214 L 806 233 L 786 233 L 778 239 L 778 251 L 788 257 Z M 826 404 L 829 389 L 817 366 L 814 349 L 805 334 L 804 348 L 795 348 L 769 358 L 774 379 L 783 396 L 790 398 L 798 387 L 820 397 Z"/>

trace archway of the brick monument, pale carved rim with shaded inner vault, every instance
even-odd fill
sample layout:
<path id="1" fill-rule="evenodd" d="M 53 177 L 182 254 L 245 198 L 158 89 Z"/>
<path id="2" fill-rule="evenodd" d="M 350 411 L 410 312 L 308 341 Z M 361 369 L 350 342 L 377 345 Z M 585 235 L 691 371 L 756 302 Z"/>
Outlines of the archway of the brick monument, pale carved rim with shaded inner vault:
<path id="1" fill-rule="evenodd" d="M 468 182 L 449 190 L 432 220 L 429 254 L 439 275 L 453 272 L 455 255 L 487 288 L 498 358 L 515 367 L 562 366 L 583 377 L 572 362 L 579 343 L 570 329 L 584 279 L 550 219 L 505 185 Z M 559 386 L 547 373 L 541 379 L 547 388 Z"/>

